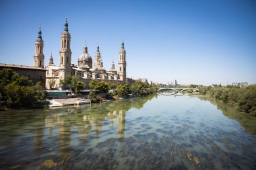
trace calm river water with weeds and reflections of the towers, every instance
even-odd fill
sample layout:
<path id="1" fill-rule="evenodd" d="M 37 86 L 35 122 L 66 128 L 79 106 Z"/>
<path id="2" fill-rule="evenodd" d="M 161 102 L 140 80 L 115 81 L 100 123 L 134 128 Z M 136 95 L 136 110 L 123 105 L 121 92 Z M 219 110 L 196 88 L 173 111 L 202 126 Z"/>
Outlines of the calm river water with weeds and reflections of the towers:
<path id="1" fill-rule="evenodd" d="M 255 118 L 234 114 L 164 95 L 0 112 L 0 169 L 256 169 Z"/>

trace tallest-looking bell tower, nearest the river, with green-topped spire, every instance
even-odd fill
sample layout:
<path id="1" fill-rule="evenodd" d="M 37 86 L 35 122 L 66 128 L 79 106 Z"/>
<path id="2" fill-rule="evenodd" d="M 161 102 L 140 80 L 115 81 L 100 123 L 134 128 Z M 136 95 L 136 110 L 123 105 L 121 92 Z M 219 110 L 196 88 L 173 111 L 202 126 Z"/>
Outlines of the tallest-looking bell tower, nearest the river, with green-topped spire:
<path id="1" fill-rule="evenodd" d="M 59 51 L 59 79 L 63 80 L 68 75 L 71 75 L 71 50 L 69 29 L 67 24 L 67 17 L 64 31 L 61 33 L 61 50 Z"/>

